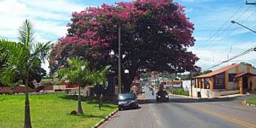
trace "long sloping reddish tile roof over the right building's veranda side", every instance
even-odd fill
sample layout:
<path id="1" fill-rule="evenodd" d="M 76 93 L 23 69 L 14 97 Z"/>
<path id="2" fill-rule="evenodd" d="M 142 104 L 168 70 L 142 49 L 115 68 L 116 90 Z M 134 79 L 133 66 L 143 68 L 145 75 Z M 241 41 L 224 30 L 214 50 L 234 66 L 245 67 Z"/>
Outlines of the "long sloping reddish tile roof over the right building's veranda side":
<path id="1" fill-rule="evenodd" d="M 207 73 L 207 74 L 204 74 L 204 75 L 201 75 L 201 76 L 196 76 L 194 78 L 207 78 L 207 77 L 212 77 L 212 76 L 215 76 L 215 75 L 218 75 L 219 73 L 223 73 L 233 67 L 236 67 L 236 66 L 239 66 L 239 64 L 232 64 L 232 65 L 228 65 L 228 66 L 225 66 L 225 67 L 222 67 L 218 70 L 215 70 L 211 73 Z"/>

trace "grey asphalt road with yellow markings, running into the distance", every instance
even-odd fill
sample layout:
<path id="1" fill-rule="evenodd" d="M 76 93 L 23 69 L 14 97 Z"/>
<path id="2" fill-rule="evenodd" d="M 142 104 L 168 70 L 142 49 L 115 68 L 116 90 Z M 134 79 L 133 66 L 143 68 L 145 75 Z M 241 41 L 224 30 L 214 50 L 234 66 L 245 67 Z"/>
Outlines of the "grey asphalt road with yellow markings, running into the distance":
<path id="1" fill-rule="evenodd" d="M 156 102 L 145 88 L 146 103 L 117 112 L 101 128 L 256 128 L 256 109 L 241 105 L 247 97 L 189 99 L 170 96 Z"/>

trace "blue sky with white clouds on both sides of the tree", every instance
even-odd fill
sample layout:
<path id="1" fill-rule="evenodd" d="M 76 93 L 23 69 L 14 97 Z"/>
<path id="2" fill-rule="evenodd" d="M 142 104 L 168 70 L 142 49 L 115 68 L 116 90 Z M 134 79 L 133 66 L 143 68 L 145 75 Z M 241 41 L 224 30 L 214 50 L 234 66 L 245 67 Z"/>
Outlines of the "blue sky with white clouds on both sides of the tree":
<path id="1" fill-rule="evenodd" d="M 35 39 L 55 43 L 67 33 L 72 12 L 102 3 L 114 4 L 131 0 L 0 0 L 0 38 L 17 40 L 17 29 L 25 19 L 35 27 Z M 188 48 L 200 60 L 203 70 L 256 46 L 256 33 L 230 20 L 256 30 L 256 6 L 246 0 L 174 0 L 185 6 L 186 16 L 195 24 L 195 46 Z M 248 0 L 248 2 L 254 2 Z M 256 52 L 250 52 L 216 68 L 241 61 L 256 66 Z M 42 67 L 49 72 L 49 63 Z"/>

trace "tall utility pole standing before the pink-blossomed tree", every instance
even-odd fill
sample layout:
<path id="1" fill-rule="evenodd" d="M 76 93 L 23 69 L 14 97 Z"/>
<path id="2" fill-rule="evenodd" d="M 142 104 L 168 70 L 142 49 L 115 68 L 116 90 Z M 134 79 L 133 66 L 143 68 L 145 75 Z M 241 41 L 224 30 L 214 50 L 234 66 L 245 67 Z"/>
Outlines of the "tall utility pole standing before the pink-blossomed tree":
<path id="1" fill-rule="evenodd" d="M 118 93 L 121 94 L 121 24 L 118 27 Z"/>

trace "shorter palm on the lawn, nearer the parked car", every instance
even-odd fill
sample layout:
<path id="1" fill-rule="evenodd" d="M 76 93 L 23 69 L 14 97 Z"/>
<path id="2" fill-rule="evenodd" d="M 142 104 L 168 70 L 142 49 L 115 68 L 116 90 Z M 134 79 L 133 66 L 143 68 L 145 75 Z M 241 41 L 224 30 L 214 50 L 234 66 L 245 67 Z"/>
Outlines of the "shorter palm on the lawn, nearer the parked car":
<path id="1" fill-rule="evenodd" d="M 94 70 L 90 70 L 87 61 L 82 61 L 77 58 L 72 58 L 68 61 L 68 67 L 58 70 L 55 76 L 60 81 L 69 81 L 74 84 L 78 84 L 78 114 L 84 114 L 81 106 L 81 85 L 93 83 Z"/>

